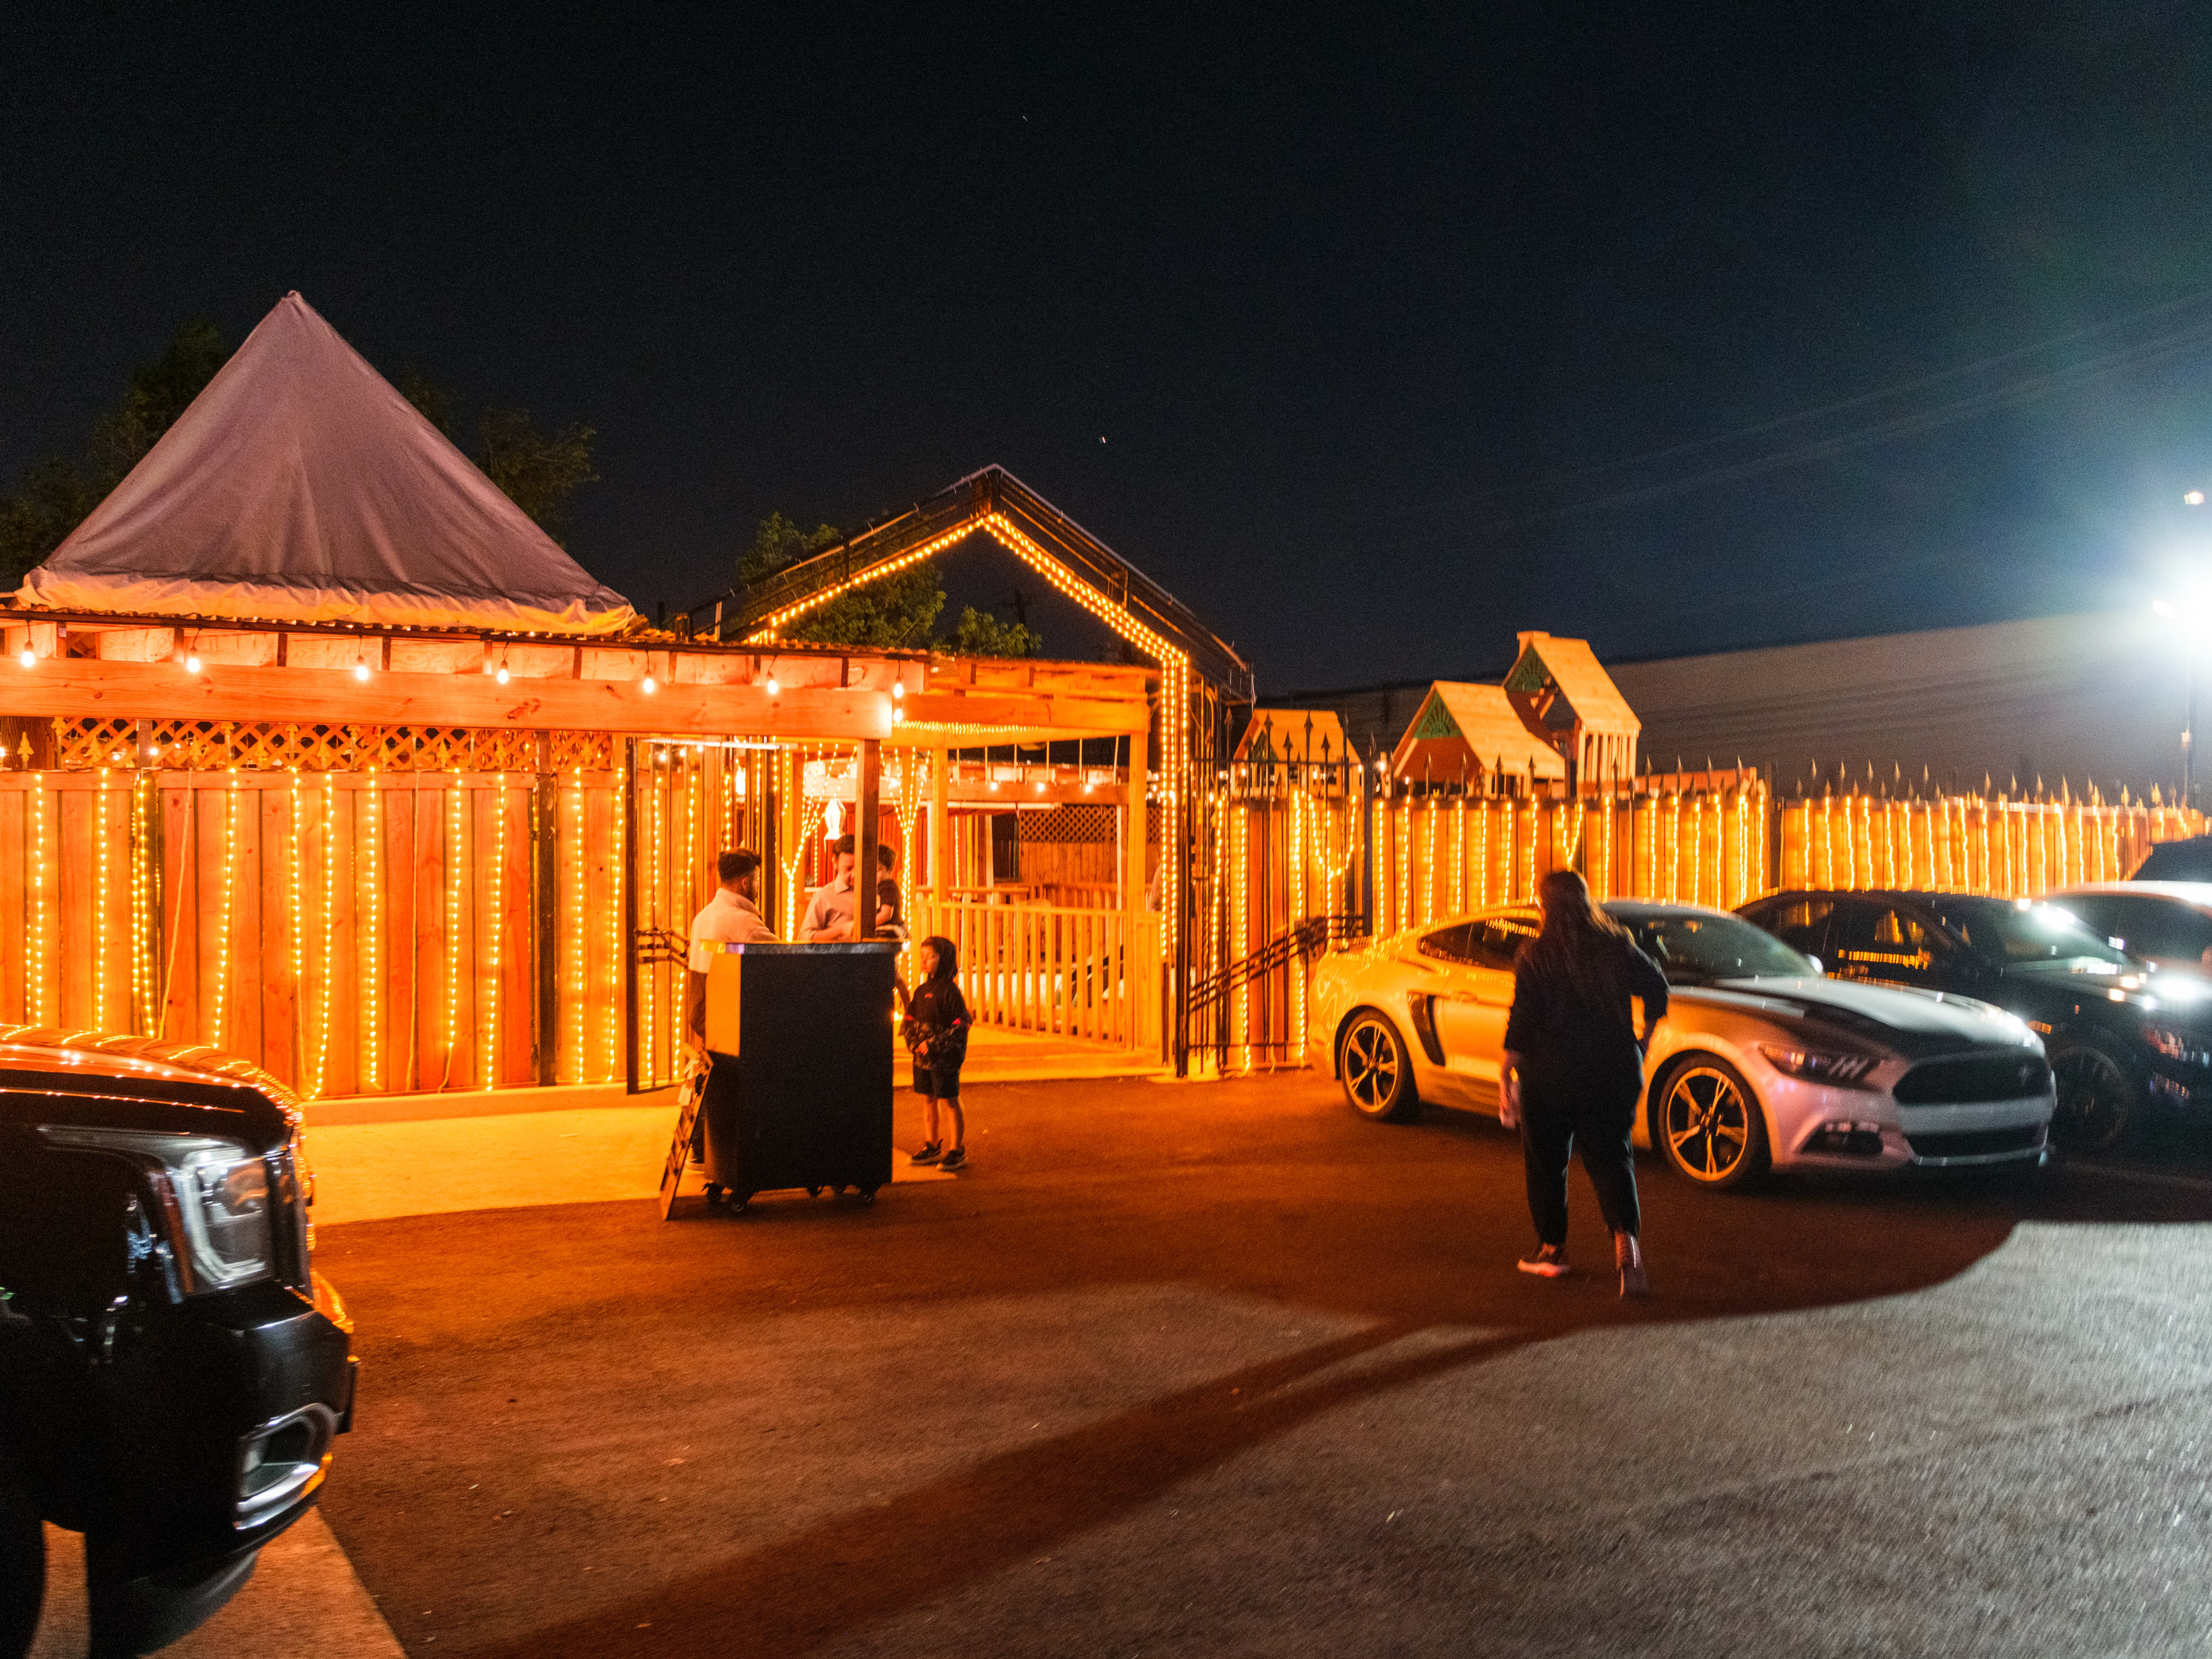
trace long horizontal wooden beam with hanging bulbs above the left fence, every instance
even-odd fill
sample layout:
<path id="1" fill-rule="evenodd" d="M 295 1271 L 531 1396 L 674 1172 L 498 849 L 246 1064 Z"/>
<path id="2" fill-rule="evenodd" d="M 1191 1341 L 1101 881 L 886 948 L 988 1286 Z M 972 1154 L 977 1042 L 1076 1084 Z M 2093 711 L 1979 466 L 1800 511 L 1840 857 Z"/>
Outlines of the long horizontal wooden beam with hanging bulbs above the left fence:
<path id="1" fill-rule="evenodd" d="M 177 664 L 84 657 L 0 668 L 7 670 L 0 677 L 0 710 L 9 714 L 783 739 L 880 739 L 891 732 L 889 695 L 860 688 L 787 686 L 770 697 L 761 686 L 664 684 L 646 692 L 641 681 L 515 679 L 500 686 L 491 675 L 378 672 L 356 679 L 352 670 L 217 664 L 188 675 Z"/>

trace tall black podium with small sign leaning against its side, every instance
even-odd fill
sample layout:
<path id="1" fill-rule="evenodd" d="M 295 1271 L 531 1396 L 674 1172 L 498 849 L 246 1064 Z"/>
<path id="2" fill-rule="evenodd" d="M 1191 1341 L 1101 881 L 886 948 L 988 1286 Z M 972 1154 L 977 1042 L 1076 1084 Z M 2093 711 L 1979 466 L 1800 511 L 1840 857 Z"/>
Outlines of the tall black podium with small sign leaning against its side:
<path id="1" fill-rule="evenodd" d="M 697 1102 L 670 1146 L 681 1170 L 706 1117 L 706 1197 L 743 1210 L 754 1192 L 854 1190 L 891 1179 L 891 975 L 896 940 L 723 945 L 706 975 Z M 661 1214 L 672 1201 L 664 1183 Z"/>

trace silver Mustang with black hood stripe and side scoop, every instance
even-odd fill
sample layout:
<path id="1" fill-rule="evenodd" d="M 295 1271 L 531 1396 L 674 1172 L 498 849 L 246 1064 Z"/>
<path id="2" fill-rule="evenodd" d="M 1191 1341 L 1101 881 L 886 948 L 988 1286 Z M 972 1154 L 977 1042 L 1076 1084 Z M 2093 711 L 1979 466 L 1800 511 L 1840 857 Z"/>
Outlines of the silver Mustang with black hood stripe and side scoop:
<path id="1" fill-rule="evenodd" d="M 1741 916 L 1615 900 L 1666 971 L 1637 1144 L 1708 1188 L 1767 1168 L 2039 1164 L 2044 1046 L 1982 1002 L 1829 980 Z M 1316 1064 L 1367 1117 L 1422 1102 L 1498 1110 L 1513 951 L 1531 905 L 1482 909 L 1332 956 L 1314 973 Z"/>

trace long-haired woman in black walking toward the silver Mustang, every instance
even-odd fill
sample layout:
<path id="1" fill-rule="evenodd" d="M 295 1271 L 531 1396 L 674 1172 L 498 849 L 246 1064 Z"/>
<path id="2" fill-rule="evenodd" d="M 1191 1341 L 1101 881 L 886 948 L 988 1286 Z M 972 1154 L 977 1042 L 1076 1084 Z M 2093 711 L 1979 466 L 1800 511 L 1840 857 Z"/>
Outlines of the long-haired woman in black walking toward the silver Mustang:
<path id="1" fill-rule="evenodd" d="M 1520 1126 L 1528 1168 L 1528 1214 L 1537 1252 L 1524 1274 L 1557 1279 L 1566 1267 L 1566 1157 L 1582 1144 L 1582 1168 L 1613 1228 L 1621 1294 L 1646 1296 L 1637 1243 L 1637 1166 L 1630 1130 L 1644 1099 L 1644 1053 L 1666 1015 L 1666 975 L 1626 929 L 1590 902 L 1573 869 L 1555 869 L 1537 889 L 1544 931 L 1513 962 L 1513 1013 L 1506 1020 L 1504 1124 Z M 1637 1040 L 1628 1000 L 1644 1004 Z"/>

